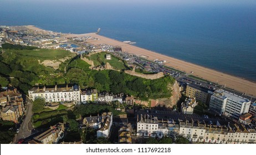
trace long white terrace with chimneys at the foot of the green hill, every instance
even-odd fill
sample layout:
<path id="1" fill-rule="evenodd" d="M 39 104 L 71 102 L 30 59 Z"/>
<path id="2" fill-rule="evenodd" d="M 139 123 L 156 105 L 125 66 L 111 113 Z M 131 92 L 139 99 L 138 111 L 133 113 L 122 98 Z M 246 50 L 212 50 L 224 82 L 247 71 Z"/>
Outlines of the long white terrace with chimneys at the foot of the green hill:
<path id="1" fill-rule="evenodd" d="M 28 91 L 29 98 L 34 101 L 37 98 L 43 98 L 46 102 L 65 102 L 74 101 L 74 104 L 80 104 L 80 87 L 78 85 L 66 86 L 55 85 L 54 87 L 43 86 L 33 87 Z"/>

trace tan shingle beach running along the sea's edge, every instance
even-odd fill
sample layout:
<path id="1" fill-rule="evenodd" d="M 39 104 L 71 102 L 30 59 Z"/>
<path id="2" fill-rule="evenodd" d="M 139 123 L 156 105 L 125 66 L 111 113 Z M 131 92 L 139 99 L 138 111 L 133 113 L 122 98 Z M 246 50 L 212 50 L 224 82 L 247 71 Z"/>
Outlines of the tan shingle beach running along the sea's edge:
<path id="1" fill-rule="evenodd" d="M 34 29 L 34 30 L 35 29 L 43 30 L 33 25 L 25 25 L 25 27 L 29 29 Z M 184 61 L 184 60 L 180 60 L 180 59 L 173 58 L 171 56 L 156 53 L 155 51 L 143 49 L 135 45 L 126 44 L 118 40 L 107 38 L 95 33 L 86 33 L 86 34 L 64 34 L 63 33 L 62 37 L 66 37 L 66 38 L 82 37 L 84 35 L 90 35 L 91 37 L 100 39 L 100 40 L 91 40 L 88 42 L 93 45 L 109 44 L 113 46 L 121 46 L 122 51 L 131 53 L 137 56 L 145 55 L 147 56 L 146 59 L 148 60 L 154 60 L 154 59 L 166 60 L 166 63 L 164 63 L 164 65 L 170 66 L 173 69 L 185 71 L 186 73 L 191 73 L 191 71 L 193 71 L 193 74 L 191 74 L 193 76 L 201 77 L 202 79 L 208 80 L 211 82 L 217 82 L 219 85 L 223 85 L 223 86 L 226 85 L 226 87 L 228 87 L 229 89 L 234 89 L 242 93 L 246 92 L 246 94 L 256 96 L 256 82 L 244 79 L 239 76 L 222 73 L 221 71 L 218 71 L 218 70 L 188 63 L 187 61 Z"/>

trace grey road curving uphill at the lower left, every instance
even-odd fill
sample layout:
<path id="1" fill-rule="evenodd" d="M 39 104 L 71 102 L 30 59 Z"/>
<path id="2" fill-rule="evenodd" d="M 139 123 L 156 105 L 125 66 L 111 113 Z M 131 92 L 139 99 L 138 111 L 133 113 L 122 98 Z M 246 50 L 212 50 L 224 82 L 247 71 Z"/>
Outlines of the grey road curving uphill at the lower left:
<path id="1" fill-rule="evenodd" d="M 27 101 L 27 111 L 25 112 L 25 118 L 22 122 L 21 127 L 19 128 L 19 133 L 14 137 L 13 143 L 17 143 L 19 139 L 26 138 L 32 134 L 32 124 L 31 124 L 31 118 L 33 115 L 32 112 L 32 101 L 26 96 Z"/>

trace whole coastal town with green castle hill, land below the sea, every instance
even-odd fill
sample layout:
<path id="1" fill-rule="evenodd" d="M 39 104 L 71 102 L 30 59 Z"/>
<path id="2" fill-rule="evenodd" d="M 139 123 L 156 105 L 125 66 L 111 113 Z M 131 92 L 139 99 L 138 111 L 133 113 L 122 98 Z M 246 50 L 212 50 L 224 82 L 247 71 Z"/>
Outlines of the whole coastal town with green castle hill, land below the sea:
<path id="1" fill-rule="evenodd" d="M 0 27 L 1 143 L 256 143 L 255 82 L 98 33 Z"/>

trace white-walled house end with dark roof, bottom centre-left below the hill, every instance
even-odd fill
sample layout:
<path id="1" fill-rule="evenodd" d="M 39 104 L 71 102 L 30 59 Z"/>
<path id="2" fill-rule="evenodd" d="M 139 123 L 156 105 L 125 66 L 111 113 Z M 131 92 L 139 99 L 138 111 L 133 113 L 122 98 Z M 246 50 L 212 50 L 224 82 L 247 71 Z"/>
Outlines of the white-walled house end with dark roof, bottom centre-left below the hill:
<path id="1" fill-rule="evenodd" d="M 97 137 L 109 137 L 113 123 L 112 112 L 104 112 L 101 114 L 101 126 L 97 131 Z"/>

